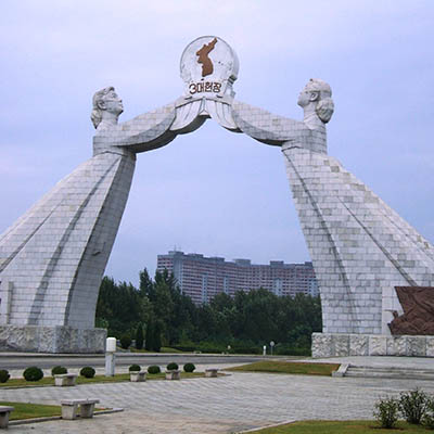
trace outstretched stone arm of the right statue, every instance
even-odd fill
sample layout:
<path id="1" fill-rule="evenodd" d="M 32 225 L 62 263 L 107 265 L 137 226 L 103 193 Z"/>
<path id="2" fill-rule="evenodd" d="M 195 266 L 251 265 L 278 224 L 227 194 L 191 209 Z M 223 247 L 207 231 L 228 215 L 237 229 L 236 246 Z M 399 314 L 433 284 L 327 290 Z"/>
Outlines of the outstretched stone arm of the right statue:
<path id="1" fill-rule="evenodd" d="M 275 115 L 240 101 L 232 102 L 232 118 L 239 129 L 267 144 L 280 146 L 310 136 L 305 123 Z"/>

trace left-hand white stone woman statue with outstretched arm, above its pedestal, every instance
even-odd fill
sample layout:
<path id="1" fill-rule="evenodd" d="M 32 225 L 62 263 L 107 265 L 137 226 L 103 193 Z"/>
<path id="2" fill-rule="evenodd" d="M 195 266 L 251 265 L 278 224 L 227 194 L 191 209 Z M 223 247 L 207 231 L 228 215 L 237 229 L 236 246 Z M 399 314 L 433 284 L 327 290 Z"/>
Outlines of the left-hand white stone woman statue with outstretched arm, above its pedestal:
<path id="1" fill-rule="evenodd" d="M 122 112 L 113 87 L 94 94 L 93 157 L 0 237 L 0 324 L 93 328 L 98 291 L 128 199 L 136 154 L 176 137 L 170 130 L 175 104 L 118 124 Z M 84 343 L 75 344 L 75 349 L 86 350 Z M 64 343 L 68 350 L 75 344 Z"/>

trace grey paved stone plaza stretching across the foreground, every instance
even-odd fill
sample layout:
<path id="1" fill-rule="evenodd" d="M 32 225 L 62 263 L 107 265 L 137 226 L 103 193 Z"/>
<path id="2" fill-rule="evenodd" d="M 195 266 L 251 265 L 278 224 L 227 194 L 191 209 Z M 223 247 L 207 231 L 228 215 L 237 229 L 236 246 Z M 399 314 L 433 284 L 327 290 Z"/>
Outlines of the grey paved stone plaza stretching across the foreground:
<path id="1" fill-rule="evenodd" d="M 432 359 L 419 358 L 359 357 L 356 361 L 383 366 L 433 365 Z M 63 398 L 95 397 L 102 407 L 125 409 L 91 420 L 11 425 L 10 433 L 213 434 L 290 420 L 371 419 L 378 397 L 417 386 L 434 393 L 434 382 L 430 381 L 230 373 L 217 379 L 178 382 L 2 390 L 1 399 L 59 404 Z"/>

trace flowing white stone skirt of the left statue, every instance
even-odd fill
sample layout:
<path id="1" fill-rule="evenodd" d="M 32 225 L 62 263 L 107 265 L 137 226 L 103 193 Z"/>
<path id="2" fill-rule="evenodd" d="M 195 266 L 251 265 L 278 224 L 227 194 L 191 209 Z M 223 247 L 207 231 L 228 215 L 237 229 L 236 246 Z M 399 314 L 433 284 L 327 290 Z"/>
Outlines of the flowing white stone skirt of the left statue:
<path id="1" fill-rule="evenodd" d="M 1 323 L 93 327 L 133 170 L 130 156 L 99 154 L 0 235 Z"/>

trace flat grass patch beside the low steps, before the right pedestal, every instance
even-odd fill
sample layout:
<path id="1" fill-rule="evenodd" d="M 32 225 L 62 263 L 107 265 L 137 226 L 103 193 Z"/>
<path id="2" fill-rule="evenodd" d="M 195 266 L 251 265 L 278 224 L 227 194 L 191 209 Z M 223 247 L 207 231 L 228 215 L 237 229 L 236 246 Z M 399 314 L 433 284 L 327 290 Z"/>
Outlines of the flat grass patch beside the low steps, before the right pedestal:
<path id="1" fill-rule="evenodd" d="M 237 372 L 294 373 L 303 375 L 331 375 L 339 369 L 339 363 L 309 363 L 304 361 L 256 361 L 254 363 L 229 368 Z"/>

